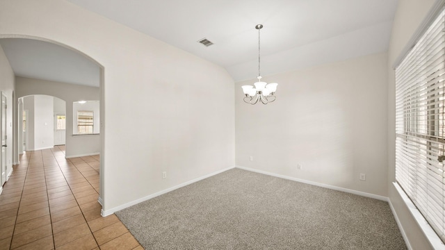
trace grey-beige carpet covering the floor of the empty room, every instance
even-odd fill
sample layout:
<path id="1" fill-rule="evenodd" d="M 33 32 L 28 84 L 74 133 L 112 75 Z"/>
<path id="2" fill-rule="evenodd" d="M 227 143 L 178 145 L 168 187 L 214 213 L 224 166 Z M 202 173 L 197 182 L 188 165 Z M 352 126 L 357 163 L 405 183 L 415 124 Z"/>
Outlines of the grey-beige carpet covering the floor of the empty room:
<path id="1" fill-rule="evenodd" d="M 385 201 L 241 169 L 116 215 L 145 249 L 407 249 Z"/>

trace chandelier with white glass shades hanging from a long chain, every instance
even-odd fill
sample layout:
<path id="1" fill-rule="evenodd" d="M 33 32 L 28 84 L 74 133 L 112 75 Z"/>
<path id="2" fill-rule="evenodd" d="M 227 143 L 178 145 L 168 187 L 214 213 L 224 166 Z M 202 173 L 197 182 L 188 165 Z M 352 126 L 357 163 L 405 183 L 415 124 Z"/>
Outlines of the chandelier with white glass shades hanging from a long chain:
<path id="1" fill-rule="evenodd" d="M 278 83 L 265 83 L 261 81 L 261 73 L 260 73 L 260 47 L 259 47 L 259 30 L 263 28 L 263 24 L 257 24 L 255 28 L 258 30 L 258 81 L 254 83 L 255 86 L 252 85 L 243 85 L 244 92 L 244 102 L 250 104 L 256 104 L 258 101 L 261 101 L 263 104 L 267 104 L 275 101 L 277 99 L 275 97 L 275 91 L 277 90 Z"/>

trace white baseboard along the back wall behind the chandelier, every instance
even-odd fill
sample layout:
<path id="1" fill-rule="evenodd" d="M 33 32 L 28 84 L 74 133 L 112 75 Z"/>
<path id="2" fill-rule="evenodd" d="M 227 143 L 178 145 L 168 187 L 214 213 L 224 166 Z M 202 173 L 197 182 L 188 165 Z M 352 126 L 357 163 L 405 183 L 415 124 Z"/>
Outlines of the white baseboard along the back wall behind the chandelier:
<path id="1" fill-rule="evenodd" d="M 262 171 L 262 170 L 258 170 L 258 169 L 252 169 L 250 167 L 236 166 L 236 168 L 244 169 L 244 170 L 247 170 L 247 171 L 250 171 L 250 172 L 256 172 L 256 173 L 259 173 L 259 174 L 267 174 L 269 176 L 274 176 L 274 177 L 278 177 L 278 178 L 284 178 L 284 179 L 290 180 L 290 181 L 298 181 L 300 183 L 306 183 L 306 184 L 309 184 L 309 185 L 316 185 L 316 186 L 321 187 L 321 188 L 329 188 L 329 189 L 337 190 L 337 191 L 341 191 L 341 192 L 348 192 L 350 194 L 357 194 L 357 195 L 360 195 L 362 197 L 369 197 L 369 198 L 373 198 L 373 199 L 379 199 L 379 200 L 382 200 L 382 201 L 388 201 L 388 197 L 382 197 L 382 196 L 377 195 L 377 194 L 369 194 L 367 192 L 361 192 L 361 191 L 357 191 L 357 190 L 350 190 L 348 188 L 340 188 L 340 187 L 337 187 L 337 186 L 334 186 L 334 185 L 327 185 L 327 184 L 323 184 L 323 183 L 317 183 L 315 181 L 307 181 L 307 180 L 303 180 L 303 179 L 300 179 L 300 178 L 294 178 L 294 177 L 291 177 L 291 176 L 284 176 L 282 174 L 274 174 L 274 173 L 270 173 L 270 172 L 266 172 L 266 171 Z"/>

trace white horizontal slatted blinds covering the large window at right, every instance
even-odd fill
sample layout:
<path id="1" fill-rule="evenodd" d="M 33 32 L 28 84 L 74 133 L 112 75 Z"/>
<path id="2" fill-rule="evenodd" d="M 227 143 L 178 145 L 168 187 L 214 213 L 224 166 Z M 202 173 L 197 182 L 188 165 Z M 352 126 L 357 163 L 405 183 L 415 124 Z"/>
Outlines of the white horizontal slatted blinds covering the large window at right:
<path id="1" fill-rule="evenodd" d="M 445 241 L 444 10 L 396 68 L 396 181 Z"/>

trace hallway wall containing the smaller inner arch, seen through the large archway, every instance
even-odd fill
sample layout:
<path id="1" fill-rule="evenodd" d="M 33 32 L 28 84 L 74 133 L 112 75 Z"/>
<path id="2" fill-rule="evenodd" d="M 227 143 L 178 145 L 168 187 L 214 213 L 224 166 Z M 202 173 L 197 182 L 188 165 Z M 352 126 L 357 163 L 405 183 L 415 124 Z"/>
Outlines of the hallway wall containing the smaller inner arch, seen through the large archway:
<path id="1" fill-rule="evenodd" d="M 44 81 L 26 77 L 16 77 L 17 97 L 32 94 L 46 94 L 65 101 L 66 112 L 66 157 L 87 156 L 100 152 L 99 135 L 73 136 L 73 108 L 74 101 L 97 100 L 100 97 L 99 88 L 68 83 Z M 26 108 L 25 108 L 26 109 Z M 54 141 L 53 141 L 54 142 Z"/>

